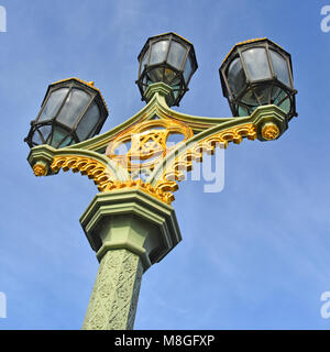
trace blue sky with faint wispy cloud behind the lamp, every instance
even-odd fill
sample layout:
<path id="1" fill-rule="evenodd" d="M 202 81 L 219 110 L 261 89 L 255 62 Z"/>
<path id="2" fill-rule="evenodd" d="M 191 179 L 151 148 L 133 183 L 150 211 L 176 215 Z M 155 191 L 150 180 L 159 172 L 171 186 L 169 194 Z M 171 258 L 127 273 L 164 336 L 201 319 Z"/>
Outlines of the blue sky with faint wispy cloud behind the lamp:
<path id="1" fill-rule="evenodd" d="M 268 37 L 293 56 L 297 110 L 276 142 L 226 152 L 226 185 L 180 184 L 183 242 L 144 274 L 135 329 L 330 329 L 330 32 L 327 1 L 0 0 L 0 329 L 80 329 L 98 270 L 79 217 L 97 193 L 87 177 L 36 178 L 23 139 L 48 84 L 95 80 L 110 110 L 102 132 L 139 111 L 136 56 L 174 31 L 199 68 L 182 112 L 231 116 L 218 68 L 230 48 Z M 330 1 L 329 1 L 330 4 Z"/>

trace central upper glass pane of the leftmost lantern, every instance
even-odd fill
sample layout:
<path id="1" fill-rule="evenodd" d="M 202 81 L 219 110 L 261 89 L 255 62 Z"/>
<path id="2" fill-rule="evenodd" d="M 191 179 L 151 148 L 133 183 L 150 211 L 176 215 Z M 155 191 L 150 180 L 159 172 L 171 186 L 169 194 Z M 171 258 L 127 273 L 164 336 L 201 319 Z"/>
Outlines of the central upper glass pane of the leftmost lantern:
<path id="1" fill-rule="evenodd" d="M 90 100 L 90 96 L 81 89 L 74 88 L 62 108 L 57 121 L 65 125 L 73 128 L 77 121 L 77 118 L 82 113 L 87 103 Z"/>

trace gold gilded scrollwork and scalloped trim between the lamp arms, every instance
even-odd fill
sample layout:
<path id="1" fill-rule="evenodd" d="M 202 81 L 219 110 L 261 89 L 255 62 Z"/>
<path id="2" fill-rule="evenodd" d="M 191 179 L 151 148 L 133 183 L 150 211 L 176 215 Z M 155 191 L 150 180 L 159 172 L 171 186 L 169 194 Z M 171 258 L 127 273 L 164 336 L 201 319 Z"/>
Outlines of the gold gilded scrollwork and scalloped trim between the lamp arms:
<path id="1" fill-rule="evenodd" d="M 157 129 L 160 127 L 164 127 L 164 130 Z M 121 163 L 123 166 L 124 163 L 128 163 L 129 170 L 131 172 L 134 172 L 135 167 L 140 169 L 142 167 L 154 169 L 158 163 L 166 158 L 169 152 L 178 146 L 178 144 L 170 147 L 166 145 L 169 131 L 184 134 L 183 142 L 193 136 L 193 131 L 178 122 L 170 121 L 169 127 L 168 121 L 147 121 L 118 135 L 113 142 L 109 144 L 107 156 L 117 163 Z M 74 173 L 80 172 L 82 175 L 91 178 L 101 193 L 123 188 L 141 189 L 158 200 L 170 205 L 174 200 L 173 193 L 178 189 L 177 182 L 185 178 L 184 172 L 193 168 L 193 162 L 201 162 L 202 154 L 212 154 L 217 145 L 226 148 L 229 142 L 239 144 L 243 138 L 248 138 L 249 140 L 256 139 L 256 128 L 253 123 L 233 127 L 191 143 L 191 145 L 187 145 L 184 152 L 178 153 L 168 165 L 165 163 L 166 166 L 162 170 L 162 176 L 154 186 L 144 183 L 142 179 L 133 180 L 131 178 L 129 180 L 118 180 L 103 163 L 90 157 L 76 155 L 55 156 L 51 168 L 55 173 L 61 168 L 64 172 L 69 169 Z M 131 147 L 128 153 L 122 155 L 114 154 L 116 147 L 129 140 L 131 141 Z M 148 161 L 150 157 L 155 156 L 156 158 L 153 158 L 151 162 Z M 134 157 L 139 157 L 139 160 L 142 161 L 142 165 L 134 165 L 132 163 Z"/>

